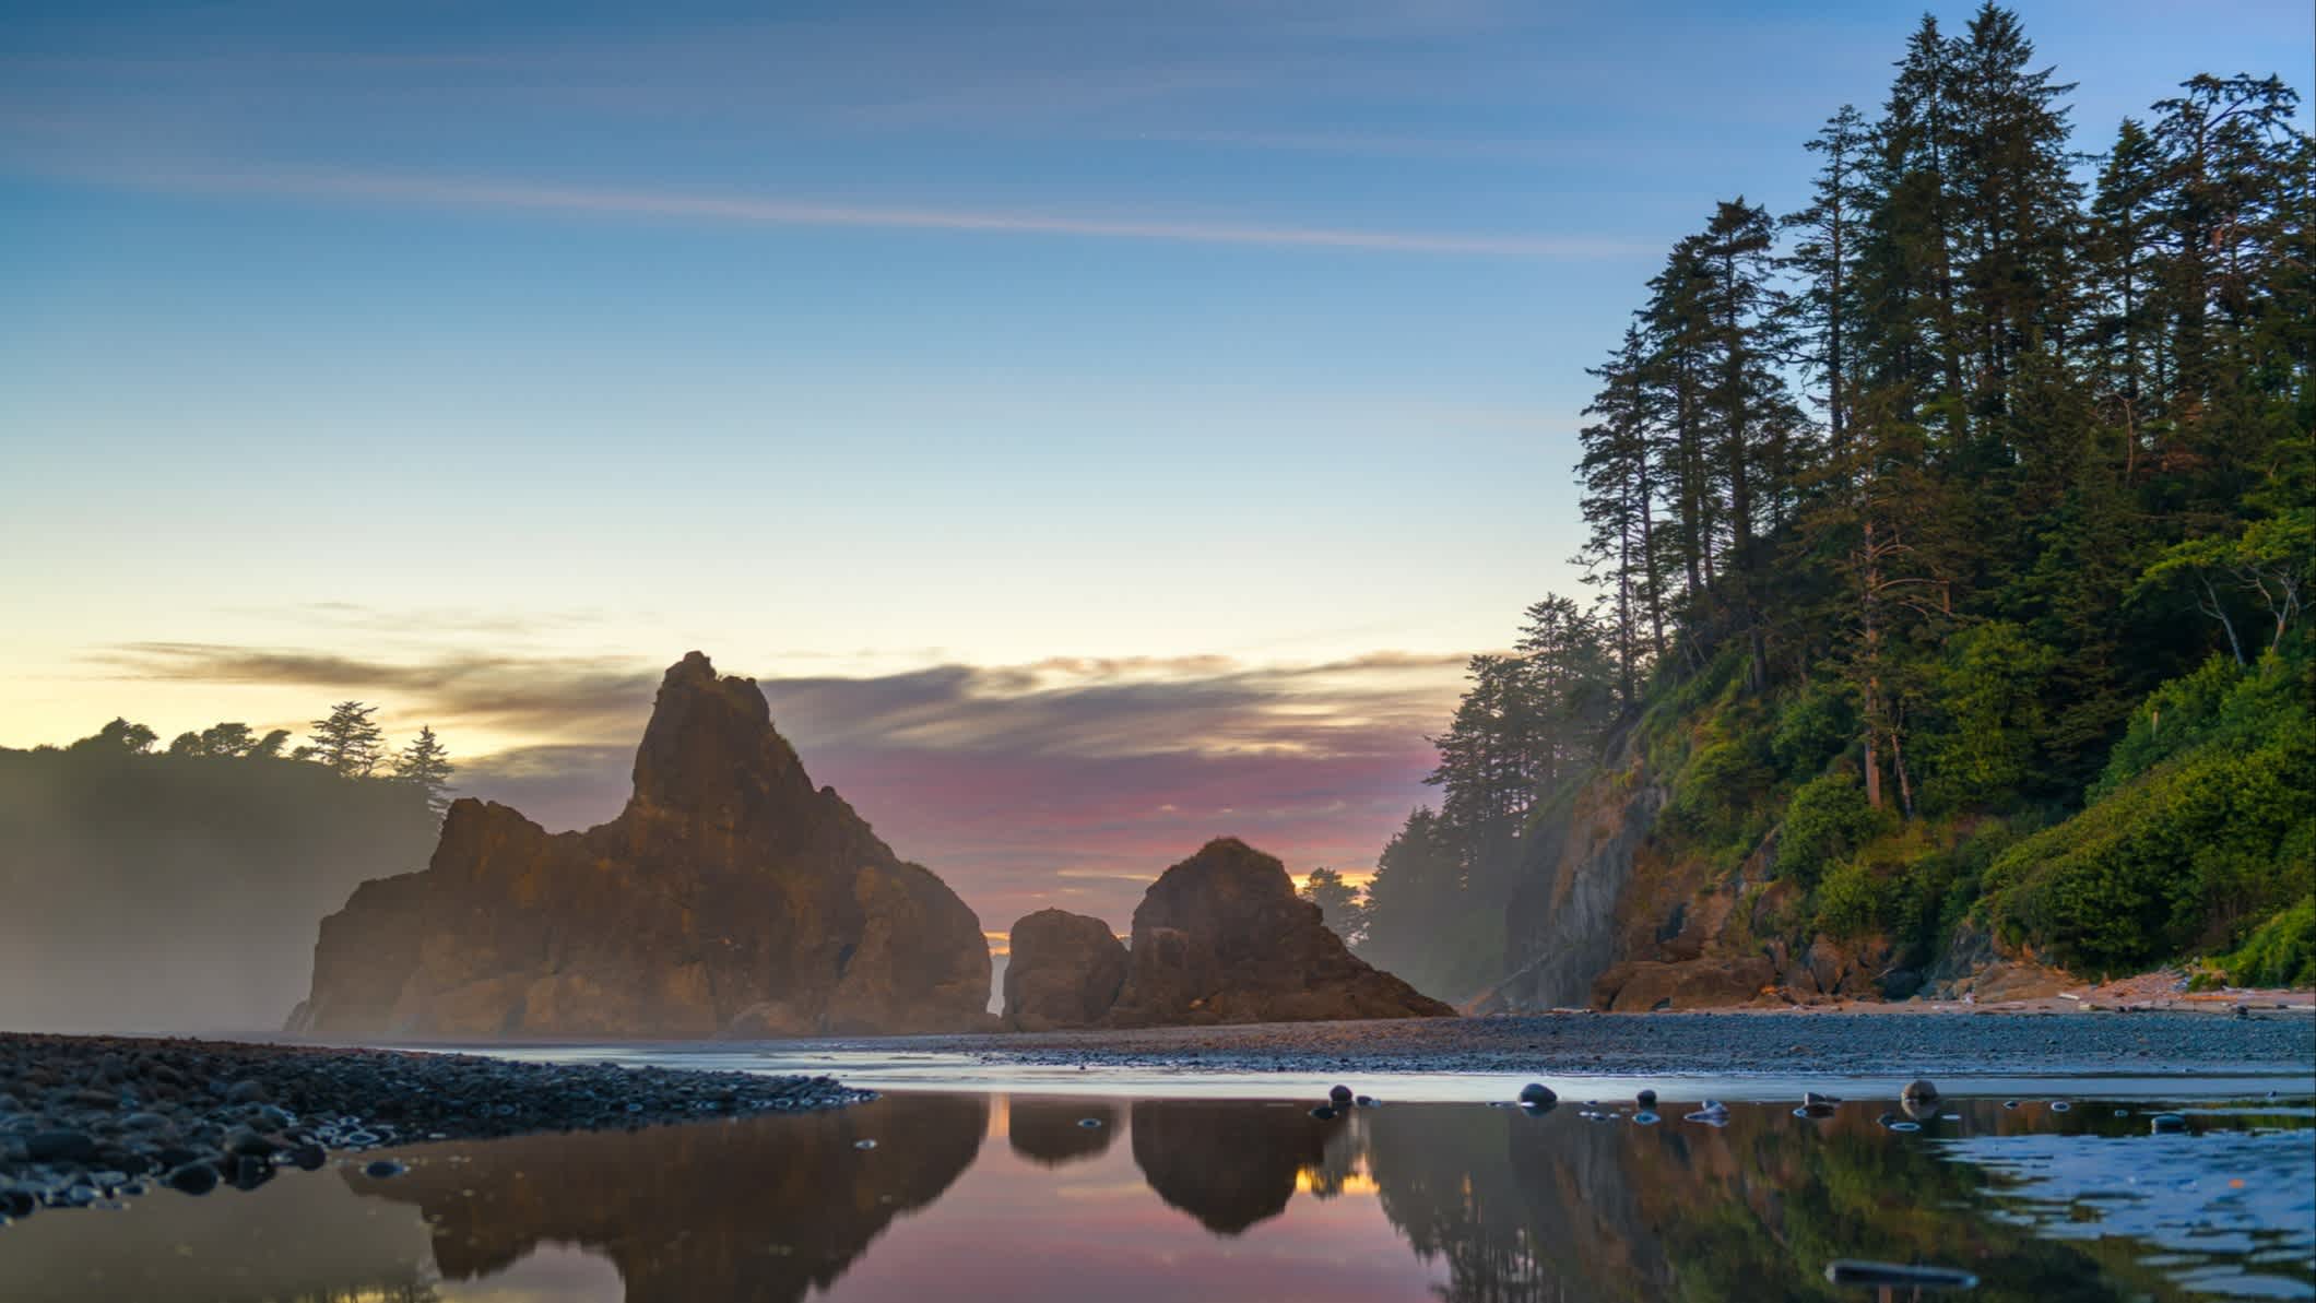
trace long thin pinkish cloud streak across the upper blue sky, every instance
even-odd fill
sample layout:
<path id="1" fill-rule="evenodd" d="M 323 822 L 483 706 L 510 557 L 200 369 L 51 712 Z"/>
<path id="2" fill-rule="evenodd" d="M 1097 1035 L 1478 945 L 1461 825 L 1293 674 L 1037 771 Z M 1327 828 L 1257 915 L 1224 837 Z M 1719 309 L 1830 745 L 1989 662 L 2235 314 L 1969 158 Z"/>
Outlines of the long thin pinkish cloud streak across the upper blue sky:
<path id="1" fill-rule="evenodd" d="M 950 206 L 855 206 L 801 197 L 697 194 L 658 187 L 586 187 L 530 181 L 415 176 L 382 171 L 308 171 L 276 167 L 72 164 L 51 176 L 174 194 L 255 194 L 269 199 L 398 204 L 574 218 L 653 218 L 753 227 L 824 227 L 882 231 L 954 231 L 989 236 L 1072 236 L 1195 245 L 1260 245 L 1387 255 L 1461 255 L 1515 259 L 1637 257 L 1637 241 L 1603 236 L 1519 236 L 1487 231 L 1390 231 L 1334 224 L 1269 224 L 1195 218 L 1105 218 L 1040 211 Z"/>

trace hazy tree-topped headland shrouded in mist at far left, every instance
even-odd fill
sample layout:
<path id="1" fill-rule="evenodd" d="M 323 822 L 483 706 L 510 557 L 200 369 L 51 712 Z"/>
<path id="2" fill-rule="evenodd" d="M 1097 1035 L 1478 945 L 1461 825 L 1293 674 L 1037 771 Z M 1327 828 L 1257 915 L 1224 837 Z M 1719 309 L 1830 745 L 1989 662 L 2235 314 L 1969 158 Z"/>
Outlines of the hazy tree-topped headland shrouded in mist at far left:
<path id="1" fill-rule="evenodd" d="M 157 750 L 113 720 L 0 750 L 0 1025 L 278 1028 L 320 919 L 424 868 L 452 775 L 431 729 L 389 764 L 359 701 L 313 729 L 290 748 L 227 722 Z"/>

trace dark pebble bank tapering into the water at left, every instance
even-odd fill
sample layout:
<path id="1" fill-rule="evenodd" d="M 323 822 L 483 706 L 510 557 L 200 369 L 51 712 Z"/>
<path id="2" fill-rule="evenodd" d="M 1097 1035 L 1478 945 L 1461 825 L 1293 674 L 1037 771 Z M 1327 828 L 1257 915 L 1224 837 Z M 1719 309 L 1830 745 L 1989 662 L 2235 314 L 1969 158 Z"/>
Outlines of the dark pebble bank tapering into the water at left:
<path id="1" fill-rule="evenodd" d="M 111 1208 L 157 1187 L 255 1190 L 283 1166 L 313 1171 L 408 1141 L 794 1113 L 873 1097 L 806 1074 L 0 1032 L 0 1222 L 37 1208 Z"/>

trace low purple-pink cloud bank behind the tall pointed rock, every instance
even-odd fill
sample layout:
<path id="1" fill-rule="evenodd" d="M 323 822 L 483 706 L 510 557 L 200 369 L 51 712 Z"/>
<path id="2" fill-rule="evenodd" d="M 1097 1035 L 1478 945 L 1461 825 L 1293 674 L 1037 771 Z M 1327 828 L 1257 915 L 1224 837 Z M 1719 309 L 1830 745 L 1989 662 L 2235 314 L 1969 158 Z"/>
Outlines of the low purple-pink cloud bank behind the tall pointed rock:
<path id="1" fill-rule="evenodd" d="M 387 662 L 218 643 L 132 643 L 104 662 L 123 676 L 384 699 L 435 720 L 454 748 L 461 722 L 554 738 L 466 757 L 459 775 L 463 792 L 547 826 L 618 810 L 660 676 L 637 660 Z M 1214 835 L 1297 870 L 1373 863 L 1424 794 L 1424 734 L 1459 667 L 1392 650 L 1313 664 L 1049 657 L 757 683 L 813 778 L 950 877 L 984 923 L 1065 903 L 1123 926 L 1142 884 Z"/>

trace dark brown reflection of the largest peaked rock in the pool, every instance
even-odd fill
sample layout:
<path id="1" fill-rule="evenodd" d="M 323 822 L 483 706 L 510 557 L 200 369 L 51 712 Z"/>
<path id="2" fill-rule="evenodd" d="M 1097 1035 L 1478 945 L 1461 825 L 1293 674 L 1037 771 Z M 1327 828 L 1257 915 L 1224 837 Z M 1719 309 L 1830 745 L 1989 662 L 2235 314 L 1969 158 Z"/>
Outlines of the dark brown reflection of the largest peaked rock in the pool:
<path id="1" fill-rule="evenodd" d="M 938 1199 L 987 1127 L 980 1097 L 887 1095 L 794 1118 L 419 1148 L 389 1180 L 340 1173 L 417 1203 L 449 1280 L 577 1243 L 618 1266 L 628 1303 L 785 1303 L 834 1284 L 894 1215 Z"/>

